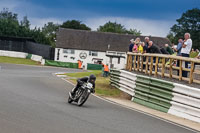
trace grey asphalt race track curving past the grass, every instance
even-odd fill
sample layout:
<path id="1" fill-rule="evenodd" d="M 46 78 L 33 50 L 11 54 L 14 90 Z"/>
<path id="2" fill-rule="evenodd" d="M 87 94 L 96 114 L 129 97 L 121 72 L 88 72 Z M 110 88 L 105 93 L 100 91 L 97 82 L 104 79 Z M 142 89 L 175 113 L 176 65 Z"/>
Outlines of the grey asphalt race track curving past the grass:
<path id="1" fill-rule="evenodd" d="M 94 96 L 68 104 L 73 86 L 52 73 L 77 70 L 0 66 L 0 133 L 192 133 Z"/>

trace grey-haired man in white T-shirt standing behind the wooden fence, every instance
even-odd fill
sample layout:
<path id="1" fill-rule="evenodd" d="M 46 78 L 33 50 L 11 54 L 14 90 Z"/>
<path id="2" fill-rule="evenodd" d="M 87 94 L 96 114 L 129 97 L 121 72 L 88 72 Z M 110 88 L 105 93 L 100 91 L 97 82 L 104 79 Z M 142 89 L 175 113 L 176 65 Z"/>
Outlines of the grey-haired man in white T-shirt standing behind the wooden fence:
<path id="1" fill-rule="evenodd" d="M 192 39 L 190 39 L 190 33 L 185 33 L 184 35 L 185 40 L 183 41 L 181 55 L 183 57 L 189 57 L 190 51 L 192 49 Z M 185 61 L 185 68 L 188 68 L 188 62 Z M 183 77 L 187 77 L 187 71 L 182 72 Z"/>

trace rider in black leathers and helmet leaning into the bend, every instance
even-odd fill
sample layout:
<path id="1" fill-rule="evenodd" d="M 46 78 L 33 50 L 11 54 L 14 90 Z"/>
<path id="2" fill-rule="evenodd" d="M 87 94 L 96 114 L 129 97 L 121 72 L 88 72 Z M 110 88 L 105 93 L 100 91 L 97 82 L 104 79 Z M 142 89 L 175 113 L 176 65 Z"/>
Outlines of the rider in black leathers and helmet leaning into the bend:
<path id="1" fill-rule="evenodd" d="M 71 96 L 74 96 L 76 94 L 76 91 L 84 84 L 87 82 L 90 82 L 93 86 L 92 93 L 95 93 L 95 81 L 96 81 L 96 76 L 91 74 L 89 77 L 83 77 L 77 80 L 77 85 L 76 87 L 70 92 Z"/>

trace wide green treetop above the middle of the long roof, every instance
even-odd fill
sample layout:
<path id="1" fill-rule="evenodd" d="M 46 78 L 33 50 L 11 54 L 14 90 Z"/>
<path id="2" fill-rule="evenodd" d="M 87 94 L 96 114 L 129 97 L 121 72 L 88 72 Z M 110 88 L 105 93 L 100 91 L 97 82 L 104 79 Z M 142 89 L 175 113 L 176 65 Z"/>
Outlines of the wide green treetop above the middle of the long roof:
<path id="1" fill-rule="evenodd" d="M 120 34 L 133 34 L 137 36 L 141 35 L 141 32 L 137 31 L 136 29 L 127 30 L 123 25 L 110 21 L 104 24 L 103 26 L 99 26 L 97 31 L 120 33 Z"/>

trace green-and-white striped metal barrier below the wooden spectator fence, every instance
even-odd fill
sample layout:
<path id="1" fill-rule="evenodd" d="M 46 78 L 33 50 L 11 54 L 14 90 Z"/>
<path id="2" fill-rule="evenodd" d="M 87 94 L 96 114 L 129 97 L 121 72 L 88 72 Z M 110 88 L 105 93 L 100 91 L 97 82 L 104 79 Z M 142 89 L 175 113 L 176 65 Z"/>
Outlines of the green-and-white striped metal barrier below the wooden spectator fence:
<path id="1" fill-rule="evenodd" d="M 125 70 L 111 70 L 110 84 L 144 106 L 200 122 L 200 89 Z"/>

